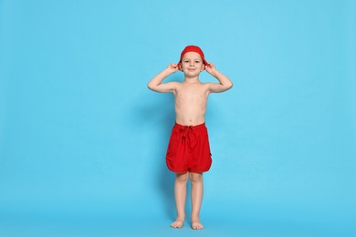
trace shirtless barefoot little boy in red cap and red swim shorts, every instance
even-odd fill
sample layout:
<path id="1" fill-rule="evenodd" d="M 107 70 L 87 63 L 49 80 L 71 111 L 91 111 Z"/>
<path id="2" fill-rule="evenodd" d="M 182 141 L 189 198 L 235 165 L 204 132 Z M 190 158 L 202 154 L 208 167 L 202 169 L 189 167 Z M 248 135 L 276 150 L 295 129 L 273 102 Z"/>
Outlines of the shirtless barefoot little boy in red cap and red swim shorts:
<path id="1" fill-rule="evenodd" d="M 201 83 L 199 74 L 204 71 L 215 77 L 219 83 Z M 165 77 L 181 70 L 184 81 L 162 83 Z M 215 65 L 207 63 L 198 46 L 186 46 L 178 64 L 170 64 L 153 77 L 148 88 L 157 92 L 172 92 L 175 98 L 175 125 L 167 149 L 166 163 L 176 173 L 174 197 L 177 218 L 173 228 L 183 226 L 186 199 L 186 183 L 192 183 L 192 228 L 203 229 L 199 220 L 203 200 L 203 172 L 210 169 L 212 158 L 207 129 L 205 127 L 206 101 L 210 93 L 223 92 L 232 88 L 231 80 L 220 73 Z"/>

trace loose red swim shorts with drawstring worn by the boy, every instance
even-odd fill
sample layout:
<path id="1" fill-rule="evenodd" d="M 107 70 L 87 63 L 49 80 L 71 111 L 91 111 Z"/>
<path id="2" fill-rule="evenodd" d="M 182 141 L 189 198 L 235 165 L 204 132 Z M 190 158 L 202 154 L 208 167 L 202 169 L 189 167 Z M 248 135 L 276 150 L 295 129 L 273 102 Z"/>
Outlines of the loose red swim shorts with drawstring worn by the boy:
<path id="1" fill-rule="evenodd" d="M 175 124 L 167 149 L 168 169 L 175 173 L 205 172 L 212 165 L 205 124 L 183 126 Z"/>

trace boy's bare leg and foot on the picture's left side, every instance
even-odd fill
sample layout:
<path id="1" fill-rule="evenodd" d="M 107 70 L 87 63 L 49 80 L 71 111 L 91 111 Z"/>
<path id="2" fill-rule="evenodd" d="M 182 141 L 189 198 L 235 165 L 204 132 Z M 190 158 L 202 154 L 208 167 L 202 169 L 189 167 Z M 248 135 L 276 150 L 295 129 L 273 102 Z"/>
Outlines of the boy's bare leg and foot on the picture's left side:
<path id="1" fill-rule="evenodd" d="M 188 180 L 188 172 L 175 175 L 174 182 L 174 197 L 175 206 L 177 208 L 177 219 L 171 224 L 173 228 L 181 228 L 183 226 L 185 214 L 185 200 L 186 200 L 186 182 Z"/>

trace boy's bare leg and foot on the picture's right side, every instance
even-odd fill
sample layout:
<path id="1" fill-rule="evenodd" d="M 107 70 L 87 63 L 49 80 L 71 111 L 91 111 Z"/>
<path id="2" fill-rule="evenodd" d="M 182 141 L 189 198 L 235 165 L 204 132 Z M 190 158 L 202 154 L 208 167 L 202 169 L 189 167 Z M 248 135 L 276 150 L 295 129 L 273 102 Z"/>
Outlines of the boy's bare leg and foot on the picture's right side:
<path id="1" fill-rule="evenodd" d="M 190 173 L 192 181 L 192 228 L 201 230 L 204 228 L 199 220 L 200 207 L 203 201 L 203 173 Z"/>

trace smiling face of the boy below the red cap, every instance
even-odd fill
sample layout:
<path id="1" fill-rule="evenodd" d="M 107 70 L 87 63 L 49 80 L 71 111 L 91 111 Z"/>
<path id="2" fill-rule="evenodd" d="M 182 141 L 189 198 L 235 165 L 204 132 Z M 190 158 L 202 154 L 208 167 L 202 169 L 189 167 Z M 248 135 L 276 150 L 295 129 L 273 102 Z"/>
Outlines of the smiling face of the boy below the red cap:
<path id="1" fill-rule="evenodd" d="M 202 57 L 195 52 L 188 52 L 183 56 L 181 67 L 184 74 L 190 76 L 199 75 L 205 68 Z"/>

